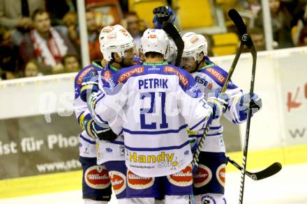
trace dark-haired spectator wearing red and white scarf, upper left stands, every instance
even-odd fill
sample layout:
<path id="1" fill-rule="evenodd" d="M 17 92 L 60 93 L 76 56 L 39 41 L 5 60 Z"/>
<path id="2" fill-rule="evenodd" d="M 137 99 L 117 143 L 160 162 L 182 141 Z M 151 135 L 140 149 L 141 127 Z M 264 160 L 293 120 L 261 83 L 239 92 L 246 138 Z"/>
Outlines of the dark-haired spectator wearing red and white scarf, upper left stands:
<path id="1" fill-rule="evenodd" d="M 24 64 L 36 59 L 43 74 L 63 72 L 61 58 L 68 53 L 77 54 L 75 48 L 66 36 L 51 26 L 45 10 L 36 10 L 32 20 L 34 29 L 24 36 L 20 45 Z"/>

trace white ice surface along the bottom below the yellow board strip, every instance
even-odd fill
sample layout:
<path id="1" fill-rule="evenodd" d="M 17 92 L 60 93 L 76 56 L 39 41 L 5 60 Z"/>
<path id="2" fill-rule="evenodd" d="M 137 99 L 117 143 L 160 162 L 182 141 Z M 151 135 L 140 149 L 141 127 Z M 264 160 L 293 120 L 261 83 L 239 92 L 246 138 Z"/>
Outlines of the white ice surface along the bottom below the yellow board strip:
<path id="1" fill-rule="evenodd" d="M 257 171 L 250 170 L 248 171 Z M 307 164 L 283 166 L 276 175 L 254 181 L 246 176 L 245 204 L 307 204 Z M 227 203 L 239 202 L 241 172 L 227 173 L 225 194 Z M 40 194 L 19 198 L 1 199 L 0 204 L 82 204 L 82 192 L 66 191 L 55 194 Z M 110 204 L 117 203 L 114 196 Z"/>

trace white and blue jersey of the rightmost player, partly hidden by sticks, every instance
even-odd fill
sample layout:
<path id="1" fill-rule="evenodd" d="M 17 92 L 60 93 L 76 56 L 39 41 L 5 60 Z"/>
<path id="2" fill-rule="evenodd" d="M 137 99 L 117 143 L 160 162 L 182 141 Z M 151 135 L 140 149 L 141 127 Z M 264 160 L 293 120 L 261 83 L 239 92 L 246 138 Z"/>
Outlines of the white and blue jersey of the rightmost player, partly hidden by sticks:
<path id="1" fill-rule="evenodd" d="M 196 70 L 192 73 L 192 75 L 207 99 L 208 93 L 211 93 L 217 89 L 221 90 L 223 88 L 228 73 L 210 61 L 208 57 L 205 58 L 205 61 L 207 65 L 204 68 Z M 241 89 L 234 85 L 232 81 L 230 81 L 227 86 L 226 94 L 229 97 L 229 102 L 227 110 L 223 116 L 225 116 L 225 118 L 230 120 L 232 123 L 243 123 L 246 121 L 246 118 L 239 115 L 239 111 L 236 107 L 239 97 L 242 95 Z M 189 137 L 191 139 L 191 143 L 193 143 L 193 148 L 197 146 L 197 141 L 200 140 L 202 133 L 203 132 L 201 131 L 190 132 Z M 202 151 L 225 152 L 225 145 L 223 141 L 223 126 L 220 124 L 219 118 L 212 121 L 206 141 L 202 146 Z"/>

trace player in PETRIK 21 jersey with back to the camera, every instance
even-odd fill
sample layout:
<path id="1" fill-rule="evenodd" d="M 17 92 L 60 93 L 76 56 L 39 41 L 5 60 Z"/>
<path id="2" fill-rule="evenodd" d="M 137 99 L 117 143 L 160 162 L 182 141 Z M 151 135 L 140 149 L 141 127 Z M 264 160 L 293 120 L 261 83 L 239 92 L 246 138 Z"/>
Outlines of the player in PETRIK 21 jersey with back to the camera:
<path id="1" fill-rule="evenodd" d="M 186 127 L 204 130 L 211 111 L 223 106 L 216 97 L 212 109 L 195 79 L 164 61 L 169 40 L 163 30 L 147 29 L 141 42 L 145 63 L 116 72 L 114 84 L 103 84 L 105 94 L 92 95 L 90 104 L 102 122 L 123 118 L 127 196 L 154 203 L 162 194 L 165 203 L 187 204 L 192 153 Z"/>

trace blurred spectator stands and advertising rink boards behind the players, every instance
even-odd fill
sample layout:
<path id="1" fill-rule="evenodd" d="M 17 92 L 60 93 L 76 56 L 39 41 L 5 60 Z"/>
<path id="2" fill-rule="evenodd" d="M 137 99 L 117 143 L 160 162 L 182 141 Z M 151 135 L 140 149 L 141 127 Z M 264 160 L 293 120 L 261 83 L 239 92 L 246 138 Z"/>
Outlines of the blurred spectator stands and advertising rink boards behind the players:
<path id="1" fill-rule="evenodd" d="M 174 10 L 182 34 L 204 35 L 225 70 L 240 41 L 227 12 L 239 11 L 258 52 L 255 92 L 263 102 L 248 168 L 307 163 L 306 0 L 0 0 L 0 198 L 81 188 L 74 77 L 102 59 L 103 26 L 122 24 L 140 49 L 157 6 Z M 233 81 L 248 92 L 246 52 Z M 227 152 L 241 162 L 245 125 L 222 120 Z"/>

